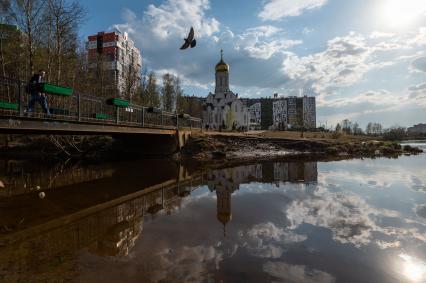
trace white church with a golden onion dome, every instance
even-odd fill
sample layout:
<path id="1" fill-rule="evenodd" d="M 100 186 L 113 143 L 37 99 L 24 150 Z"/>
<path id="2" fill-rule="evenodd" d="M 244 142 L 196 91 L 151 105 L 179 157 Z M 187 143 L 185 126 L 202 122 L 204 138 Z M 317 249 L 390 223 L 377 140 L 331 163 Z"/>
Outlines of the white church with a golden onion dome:
<path id="1" fill-rule="evenodd" d="M 207 130 L 246 131 L 250 123 L 249 111 L 243 102 L 229 89 L 229 65 L 216 64 L 216 87 L 209 93 L 203 105 L 203 127 Z"/>

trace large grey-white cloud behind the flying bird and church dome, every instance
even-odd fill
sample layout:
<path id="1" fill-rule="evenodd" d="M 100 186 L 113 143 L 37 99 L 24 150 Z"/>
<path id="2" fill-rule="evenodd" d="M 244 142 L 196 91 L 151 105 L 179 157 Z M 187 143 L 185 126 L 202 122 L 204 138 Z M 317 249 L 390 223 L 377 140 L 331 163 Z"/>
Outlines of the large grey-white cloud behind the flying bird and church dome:
<path id="1" fill-rule="evenodd" d="M 212 90 L 220 49 L 224 49 L 225 61 L 231 65 L 234 91 L 249 93 L 257 87 L 264 92 L 265 88 L 283 86 L 287 78 L 277 71 L 280 62 L 286 50 L 301 41 L 287 38 L 282 29 L 272 25 L 252 27 L 236 34 L 209 17 L 208 9 L 207 0 L 168 0 L 158 6 L 150 5 L 142 17 L 127 10 L 125 23 L 116 26 L 129 32 L 142 51 L 146 67 L 154 71 L 176 71 L 186 89 L 195 87 L 203 91 L 197 95 L 207 95 L 208 91 L 204 92 L 207 87 Z M 180 51 L 191 25 L 198 39 L 197 47 Z"/>

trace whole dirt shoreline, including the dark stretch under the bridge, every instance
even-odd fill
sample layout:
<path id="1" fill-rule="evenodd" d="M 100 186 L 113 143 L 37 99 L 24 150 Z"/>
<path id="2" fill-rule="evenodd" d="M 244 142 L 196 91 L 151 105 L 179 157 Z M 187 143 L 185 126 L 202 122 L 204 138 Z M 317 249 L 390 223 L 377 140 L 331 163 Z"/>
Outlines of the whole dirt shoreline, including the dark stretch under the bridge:
<path id="1" fill-rule="evenodd" d="M 49 144 L 48 139 L 0 148 L 0 156 L 11 159 L 46 159 L 72 157 L 89 162 L 103 162 L 129 159 L 153 158 L 134 152 L 126 155 L 114 147 L 112 138 L 92 137 L 84 140 L 71 155 Z M 67 149 L 65 149 L 67 150 Z M 181 152 L 168 156 L 175 161 L 195 164 L 225 164 L 271 159 L 321 159 L 342 160 L 352 158 L 397 157 L 419 154 L 422 150 L 401 146 L 398 142 L 378 141 L 369 138 L 316 139 L 265 137 L 262 135 L 201 133 L 190 138 Z M 165 157 L 165 156 L 162 156 Z M 125 159 L 124 158 L 124 159 Z"/>

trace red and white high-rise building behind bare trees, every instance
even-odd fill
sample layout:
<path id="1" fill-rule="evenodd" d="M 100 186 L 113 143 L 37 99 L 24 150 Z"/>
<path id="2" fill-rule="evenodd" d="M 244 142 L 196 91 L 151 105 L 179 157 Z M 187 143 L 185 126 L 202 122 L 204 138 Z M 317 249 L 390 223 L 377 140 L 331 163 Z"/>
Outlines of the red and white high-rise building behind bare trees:
<path id="1" fill-rule="evenodd" d="M 118 96 L 132 92 L 140 84 L 142 57 L 126 32 L 98 32 L 88 37 L 89 69 L 102 64 L 110 85 Z"/>

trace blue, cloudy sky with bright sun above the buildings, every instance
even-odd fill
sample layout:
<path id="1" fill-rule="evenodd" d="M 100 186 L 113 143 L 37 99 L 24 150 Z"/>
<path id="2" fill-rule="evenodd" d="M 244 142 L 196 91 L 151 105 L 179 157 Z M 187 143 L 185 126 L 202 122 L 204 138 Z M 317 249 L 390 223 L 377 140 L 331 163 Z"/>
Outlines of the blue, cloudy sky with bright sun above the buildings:
<path id="1" fill-rule="evenodd" d="M 318 124 L 426 123 L 424 0 L 90 0 L 80 36 L 118 28 L 143 66 L 170 72 L 187 95 L 214 91 L 230 65 L 240 97 L 316 96 Z M 197 47 L 179 50 L 193 26 Z"/>

